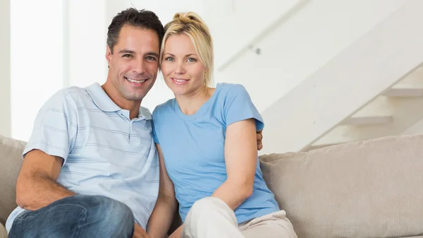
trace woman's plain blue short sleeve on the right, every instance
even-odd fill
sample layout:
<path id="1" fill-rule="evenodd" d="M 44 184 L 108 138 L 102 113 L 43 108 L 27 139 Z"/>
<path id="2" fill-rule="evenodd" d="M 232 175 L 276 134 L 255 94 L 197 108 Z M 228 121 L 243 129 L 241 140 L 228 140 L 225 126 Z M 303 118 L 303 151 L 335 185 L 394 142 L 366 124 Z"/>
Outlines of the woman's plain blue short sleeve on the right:
<path id="1" fill-rule="evenodd" d="M 252 103 L 251 97 L 243 85 L 235 84 L 228 90 L 223 110 L 226 126 L 237 121 L 254 118 L 257 131 L 264 128 L 262 116 Z"/>

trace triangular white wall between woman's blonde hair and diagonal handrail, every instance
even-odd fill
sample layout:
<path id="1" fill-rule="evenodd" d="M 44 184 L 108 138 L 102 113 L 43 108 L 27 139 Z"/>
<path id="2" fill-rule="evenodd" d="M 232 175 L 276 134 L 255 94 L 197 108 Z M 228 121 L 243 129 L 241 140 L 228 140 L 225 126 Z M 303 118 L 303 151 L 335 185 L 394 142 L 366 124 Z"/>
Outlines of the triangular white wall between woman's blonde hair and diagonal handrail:
<path id="1" fill-rule="evenodd" d="M 288 20 L 286 15 L 293 8 L 309 1 L 204 0 L 202 18 L 212 32 L 216 69 L 226 66 L 237 52 L 254 44 L 262 32 L 274 30 L 266 28 Z"/>

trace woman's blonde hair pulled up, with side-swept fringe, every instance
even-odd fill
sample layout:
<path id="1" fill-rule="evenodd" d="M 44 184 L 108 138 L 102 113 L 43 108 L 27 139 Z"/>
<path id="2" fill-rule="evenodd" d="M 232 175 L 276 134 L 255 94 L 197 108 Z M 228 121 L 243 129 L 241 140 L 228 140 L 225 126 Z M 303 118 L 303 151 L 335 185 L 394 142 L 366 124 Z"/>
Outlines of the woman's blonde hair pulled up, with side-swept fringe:
<path id="1" fill-rule="evenodd" d="M 194 44 L 195 52 L 206 68 L 204 85 L 211 86 L 213 72 L 213 42 L 209 28 L 197 13 L 176 13 L 173 20 L 164 26 L 164 37 L 160 48 L 160 62 L 163 59 L 164 44 L 171 35 L 185 34 Z"/>

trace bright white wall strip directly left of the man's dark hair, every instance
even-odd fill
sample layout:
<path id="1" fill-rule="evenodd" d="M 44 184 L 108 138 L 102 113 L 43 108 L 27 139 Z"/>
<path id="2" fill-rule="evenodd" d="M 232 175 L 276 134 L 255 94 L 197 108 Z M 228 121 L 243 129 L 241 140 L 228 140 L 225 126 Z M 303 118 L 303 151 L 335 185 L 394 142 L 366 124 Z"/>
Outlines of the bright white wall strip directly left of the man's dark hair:
<path id="1" fill-rule="evenodd" d="M 106 81 L 106 3 L 66 0 L 65 85 L 85 87 Z"/>

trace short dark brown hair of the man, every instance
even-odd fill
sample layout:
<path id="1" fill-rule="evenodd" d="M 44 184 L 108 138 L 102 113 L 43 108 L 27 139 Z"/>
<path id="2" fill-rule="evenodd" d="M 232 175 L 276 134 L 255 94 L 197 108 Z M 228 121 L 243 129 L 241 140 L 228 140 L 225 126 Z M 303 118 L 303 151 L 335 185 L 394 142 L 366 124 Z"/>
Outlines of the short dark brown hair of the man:
<path id="1" fill-rule="evenodd" d="M 109 25 L 107 31 L 107 45 L 113 54 L 113 48 L 118 42 L 119 32 L 123 25 L 131 25 L 146 30 L 154 30 L 159 35 L 159 45 L 163 40 L 164 29 L 156 13 L 142 9 L 128 8 L 116 15 Z"/>

